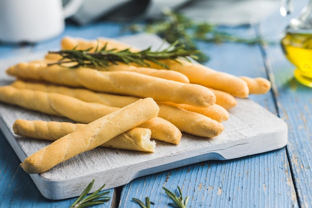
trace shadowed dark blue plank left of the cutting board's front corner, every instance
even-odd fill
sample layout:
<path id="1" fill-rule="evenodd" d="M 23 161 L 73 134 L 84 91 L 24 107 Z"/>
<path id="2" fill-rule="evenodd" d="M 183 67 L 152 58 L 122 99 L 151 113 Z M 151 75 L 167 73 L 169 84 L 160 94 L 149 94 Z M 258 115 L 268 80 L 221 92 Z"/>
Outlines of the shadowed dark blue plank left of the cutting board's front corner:
<path id="1" fill-rule="evenodd" d="M 68 200 L 48 200 L 38 191 L 30 176 L 20 167 L 20 160 L 0 131 L 0 207 L 1 208 L 67 208 L 77 198 Z M 113 197 L 114 189 L 109 197 Z M 111 207 L 112 200 L 100 207 Z"/>

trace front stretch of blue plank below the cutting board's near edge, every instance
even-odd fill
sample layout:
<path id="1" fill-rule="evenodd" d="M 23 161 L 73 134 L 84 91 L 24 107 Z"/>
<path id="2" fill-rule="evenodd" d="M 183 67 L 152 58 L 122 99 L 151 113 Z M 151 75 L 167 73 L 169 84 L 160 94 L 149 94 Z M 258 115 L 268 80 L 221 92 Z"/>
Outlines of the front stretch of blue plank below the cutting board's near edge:
<path id="1" fill-rule="evenodd" d="M 292 208 L 298 207 L 291 187 L 291 175 L 285 168 L 285 149 L 230 161 L 206 161 L 142 177 L 125 186 L 120 208 L 137 208 L 132 198 L 150 197 L 153 208 L 170 207 L 172 201 L 162 187 L 184 197 L 188 207 Z M 288 187 L 287 183 L 290 187 Z"/>

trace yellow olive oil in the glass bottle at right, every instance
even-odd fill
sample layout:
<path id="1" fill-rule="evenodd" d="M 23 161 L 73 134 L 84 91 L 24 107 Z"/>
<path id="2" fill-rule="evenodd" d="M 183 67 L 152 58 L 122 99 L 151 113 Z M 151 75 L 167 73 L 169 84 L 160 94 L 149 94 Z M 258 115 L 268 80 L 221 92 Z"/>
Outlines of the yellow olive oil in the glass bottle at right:
<path id="1" fill-rule="evenodd" d="M 312 34 L 287 33 L 281 45 L 287 59 L 296 66 L 295 78 L 312 88 Z"/>

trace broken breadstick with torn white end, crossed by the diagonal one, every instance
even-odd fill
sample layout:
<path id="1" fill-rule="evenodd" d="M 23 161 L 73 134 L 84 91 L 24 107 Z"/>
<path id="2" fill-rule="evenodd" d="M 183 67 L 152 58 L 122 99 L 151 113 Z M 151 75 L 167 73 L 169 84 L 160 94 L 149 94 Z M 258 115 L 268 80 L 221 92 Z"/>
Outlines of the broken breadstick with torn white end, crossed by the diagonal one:
<path id="1" fill-rule="evenodd" d="M 24 137 L 55 141 L 85 125 L 82 123 L 17 119 L 13 123 L 13 131 L 15 134 Z M 150 140 L 151 134 L 152 132 L 148 128 L 135 127 L 119 134 L 100 147 L 155 152 L 156 143 Z"/>

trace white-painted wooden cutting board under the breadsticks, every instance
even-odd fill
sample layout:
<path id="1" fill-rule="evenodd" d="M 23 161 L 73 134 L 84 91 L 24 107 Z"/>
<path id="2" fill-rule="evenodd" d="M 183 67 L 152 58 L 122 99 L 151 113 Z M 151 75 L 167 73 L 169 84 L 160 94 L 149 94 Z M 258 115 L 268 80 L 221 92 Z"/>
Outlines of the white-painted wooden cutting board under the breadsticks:
<path id="1" fill-rule="evenodd" d="M 146 41 L 155 46 L 161 43 L 156 36 L 149 35 L 126 37 L 123 41 L 141 48 L 148 46 L 145 46 Z M 5 74 L 9 66 L 40 59 L 45 53 L 0 61 L 0 85 L 8 85 L 14 80 Z M 96 183 L 92 190 L 103 184 L 106 184 L 105 189 L 111 189 L 164 170 L 206 160 L 228 160 L 263 153 L 287 144 L 287 124 L 282 119 L 248 99 L 237 101 L 237 106 L 229 110 L 229 120 L 223 122 L 225 130 L 215 138 L 183 134 L 179 145 L 156 141 L 155 153 L 98 147 L 45 173 L 30 176 L 44 197 L 59 200 L 79 196 L 93 179 Z M 66 121 L 0 103 L 0 128 L 21 161 L 50 142 L 15 135 L 12 124 L 16 119 Z"/>

